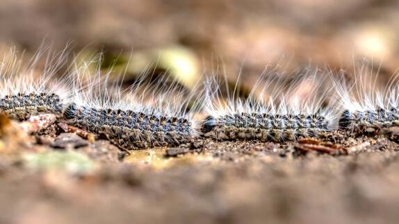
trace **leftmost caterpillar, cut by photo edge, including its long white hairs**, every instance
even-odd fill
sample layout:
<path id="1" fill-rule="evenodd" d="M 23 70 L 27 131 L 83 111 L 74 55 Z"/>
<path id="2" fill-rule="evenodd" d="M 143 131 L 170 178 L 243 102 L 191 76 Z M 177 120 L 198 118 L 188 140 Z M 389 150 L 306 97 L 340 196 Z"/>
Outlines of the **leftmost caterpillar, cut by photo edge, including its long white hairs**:
<path id="1" fill-rule="evenodd" d="M 61 72 L 66 49 L 54 53 L 41 46 L 30 60 L 15 48 L 5 53 L 0 62 L 0 111 L 19 121 L 38 114 L 60 115 L 71 96 L 67 74 Z"/>

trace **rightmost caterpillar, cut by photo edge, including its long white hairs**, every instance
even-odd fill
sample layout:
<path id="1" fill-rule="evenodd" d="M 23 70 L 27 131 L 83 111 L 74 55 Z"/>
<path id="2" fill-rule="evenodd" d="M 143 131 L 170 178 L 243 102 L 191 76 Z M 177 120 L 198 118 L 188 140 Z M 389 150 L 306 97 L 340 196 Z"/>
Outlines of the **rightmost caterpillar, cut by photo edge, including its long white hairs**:
<path id="1" fill-rule="evenodd" d="M 381 65 L 380 65 L 381 67 Z M 341 69 L 332 80 L 341 107 L 339 128 L 357 134 L 376 134 L 399 125 L 399 74 L 380 80 L 380 67 L 364 61 L 353 73 Z M 351 80 L 346 80 L 346 76 Z M 381 83 L 387 85 L 380 86 Z"/>

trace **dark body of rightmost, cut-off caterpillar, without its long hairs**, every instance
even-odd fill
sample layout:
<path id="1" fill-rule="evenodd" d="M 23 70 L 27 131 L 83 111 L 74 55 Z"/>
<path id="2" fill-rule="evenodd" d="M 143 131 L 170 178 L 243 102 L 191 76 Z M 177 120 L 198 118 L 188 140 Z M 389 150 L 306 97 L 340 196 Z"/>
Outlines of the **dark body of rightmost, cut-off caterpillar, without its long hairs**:
<path id="1" fill-rule="evenodd" d="M 340 128 L 355 132 L 375 132 L 393 126 L 399 126 L 399 110 L 395 107 L 390 107 L 388 110 L 380 108 L 376 111 L 345 110 L 339 119 Z"/>

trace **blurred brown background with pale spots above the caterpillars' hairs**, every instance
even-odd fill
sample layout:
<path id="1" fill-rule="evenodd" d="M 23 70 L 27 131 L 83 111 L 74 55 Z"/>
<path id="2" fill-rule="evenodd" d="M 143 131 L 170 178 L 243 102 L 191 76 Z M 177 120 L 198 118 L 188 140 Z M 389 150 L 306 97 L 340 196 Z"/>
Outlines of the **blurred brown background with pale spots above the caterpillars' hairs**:
<path id="1" fill-rule="evenodd" d="M 71 42 L 79 55 L 104 52 L 104 68 L 130 60 L 127 74 L 138 74 L 152 63 L 186 85 L 204 72 L 252 80 L 267 64 L 351 69 L 364 59 L 390 76 L 398 21 L 393 0 L 2 0 L 0 43 L 34 53 L 44 39 L 56 50 Z"/>

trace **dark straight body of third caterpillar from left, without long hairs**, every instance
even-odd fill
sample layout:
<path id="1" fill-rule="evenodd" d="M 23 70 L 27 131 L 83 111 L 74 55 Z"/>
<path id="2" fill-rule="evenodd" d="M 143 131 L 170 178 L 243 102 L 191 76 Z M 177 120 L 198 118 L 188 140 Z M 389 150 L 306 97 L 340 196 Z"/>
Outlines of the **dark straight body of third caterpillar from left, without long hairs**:
<path id="1" fill-rule="evenodd" d="M 285 141 L 315 136 L 329 130 L 328 125 L 327 119 L 317 114 L 239 113 L 208 117 L 203 123 L 202 132 L 212 133 L 218 139 L 220 135 L 225 135 L 227 139 Z"/>

